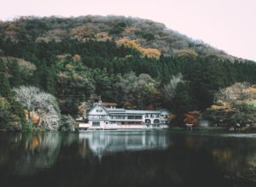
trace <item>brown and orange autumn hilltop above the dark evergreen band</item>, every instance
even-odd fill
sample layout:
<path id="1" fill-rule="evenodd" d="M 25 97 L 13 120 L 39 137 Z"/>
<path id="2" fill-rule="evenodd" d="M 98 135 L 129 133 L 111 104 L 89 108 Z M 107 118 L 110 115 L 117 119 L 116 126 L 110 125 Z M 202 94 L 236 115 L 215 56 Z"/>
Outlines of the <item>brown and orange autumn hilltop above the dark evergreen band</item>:
<path id="1" fill-rule="evenodd" d="M 118 45 L 124 44 L 135 48 L 148 57 L 159 57 L 160 54 L 165 56 L 215 55 L 230 61 L 236 59 L 204 42 L 172 31 L 164 24 L 124 16 L 20 17 L 0 23 L 0 31 L 1 38 L 9 38 L 15 42 L 50 42 L 52 40 L 61 42 L 65 39 L 81 42 L 114 40 Z M 4 53 L 3 48 L 0 48 L 0 51 Z M 243 61 L 243 59 L 239 60 Z"/>

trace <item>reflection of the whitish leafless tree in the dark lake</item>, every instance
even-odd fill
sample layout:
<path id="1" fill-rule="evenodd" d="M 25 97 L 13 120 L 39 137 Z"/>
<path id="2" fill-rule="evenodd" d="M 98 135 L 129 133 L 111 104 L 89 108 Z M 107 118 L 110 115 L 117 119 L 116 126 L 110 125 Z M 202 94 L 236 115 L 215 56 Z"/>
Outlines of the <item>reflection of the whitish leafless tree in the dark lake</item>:
<path id="1" fill-rule="evenodd" d="M 51 167 L 61 149 L 60 133 L 22 134 L 19 156 L 15 160 L 15 174 L 33 174 Z"/>

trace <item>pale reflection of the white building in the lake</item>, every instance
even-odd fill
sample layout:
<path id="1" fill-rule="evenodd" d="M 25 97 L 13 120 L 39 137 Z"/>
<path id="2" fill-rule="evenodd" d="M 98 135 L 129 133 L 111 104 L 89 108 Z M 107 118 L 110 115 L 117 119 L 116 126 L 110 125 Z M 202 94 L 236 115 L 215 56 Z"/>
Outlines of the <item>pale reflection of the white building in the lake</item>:
<path id="1" fill-rule="evenodd" d="M 85 132 L 79 133 L 79 141 L 88 142 L 89 149 L 96 156 L 123 150 L 162 150 L 169 145 L 164 131 Z"/>

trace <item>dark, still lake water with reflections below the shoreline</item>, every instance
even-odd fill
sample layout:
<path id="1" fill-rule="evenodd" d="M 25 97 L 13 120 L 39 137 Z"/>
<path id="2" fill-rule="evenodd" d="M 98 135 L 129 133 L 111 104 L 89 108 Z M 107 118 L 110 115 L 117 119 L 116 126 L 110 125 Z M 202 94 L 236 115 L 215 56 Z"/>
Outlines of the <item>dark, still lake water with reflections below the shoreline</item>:
<path id="1" fill-rule="evenodd" d="M 256 133 L 0 133 L 0 186 L 256 186 Z"/>

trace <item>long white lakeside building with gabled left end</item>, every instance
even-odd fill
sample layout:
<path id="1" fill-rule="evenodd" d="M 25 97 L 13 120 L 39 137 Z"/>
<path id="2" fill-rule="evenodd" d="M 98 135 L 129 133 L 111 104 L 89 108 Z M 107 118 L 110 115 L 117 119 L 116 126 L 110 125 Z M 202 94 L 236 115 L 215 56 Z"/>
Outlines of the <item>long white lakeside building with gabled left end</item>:
<path id="1" fill-rule="evenodd" d="M 117 109 L 115 106 L 104 106 L 96 103 L 88 113 L 87 128 L 92 129 L 142 129 L 166 128 L 169 125 L 167 110 L 138 111 Z M 82 127 L 82 126 L 81 126 Z M 84 128 L 86 128 L 84 126 Z"/>

